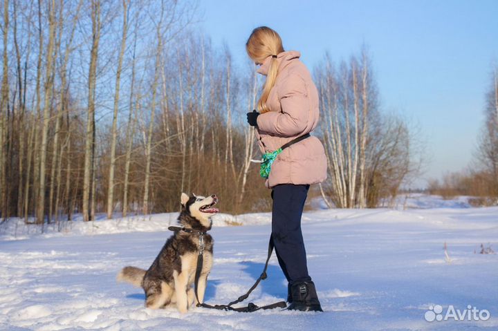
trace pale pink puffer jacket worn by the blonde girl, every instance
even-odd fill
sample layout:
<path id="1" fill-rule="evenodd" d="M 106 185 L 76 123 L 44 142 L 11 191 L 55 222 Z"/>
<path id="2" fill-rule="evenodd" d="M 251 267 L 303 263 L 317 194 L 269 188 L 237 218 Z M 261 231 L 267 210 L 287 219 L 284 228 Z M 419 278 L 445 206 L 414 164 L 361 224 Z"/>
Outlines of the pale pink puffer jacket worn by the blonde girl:
<path id="1" fill-rule="evenodd" d="M 279 71 L 268 95 L 267 113 L 257 117 L 257 139 L 262 153 L 275 151 L 291 140 L 309 133 L 318 123 L 318 91 L 311 75 L 295 50 L 279 53 Z M 268 73 L 272 57 L 267 57 L 261 75 Z M 273 162 L 266 187 L 279 184 L 315 184 L 326 179 L 324 146 L 318 138 L 306 138 L 284 149 Z"/>

